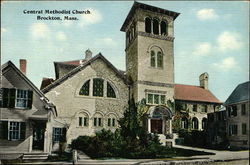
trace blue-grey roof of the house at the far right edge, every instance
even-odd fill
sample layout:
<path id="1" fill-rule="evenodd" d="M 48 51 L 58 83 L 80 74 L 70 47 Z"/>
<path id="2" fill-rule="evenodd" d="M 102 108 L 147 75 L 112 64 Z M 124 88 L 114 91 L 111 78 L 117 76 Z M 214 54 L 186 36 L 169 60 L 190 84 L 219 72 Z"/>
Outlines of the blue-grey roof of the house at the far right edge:
<path id="1" fill-rule="evenodd" d="M 249 101 L 250 81 L 239 84 L 227 98 L 225 105 Z"/>

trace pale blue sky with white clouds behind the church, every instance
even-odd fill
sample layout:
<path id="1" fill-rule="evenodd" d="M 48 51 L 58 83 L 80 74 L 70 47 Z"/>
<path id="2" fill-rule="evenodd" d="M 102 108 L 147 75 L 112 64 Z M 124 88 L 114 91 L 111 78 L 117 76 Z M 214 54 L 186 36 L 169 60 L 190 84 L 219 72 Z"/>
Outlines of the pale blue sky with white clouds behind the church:
<path id="1" fill-rule="evenodd" d="M 174 23 L 175 83 L 199 85 L 225 101 L 249 81 L 249 2 L 138 1 L 181 13 Z M 40 88 L 55 78 L 54 61 L 83 59 L 90 49 L 125 70 L 125 34 L 120 28 L 133 1 L 1 1 L 1 64 L 27 60 L 27 77 Z M 73 10 L 91 14 L 24 14 L 24 10 Z M 62 20 L 37 20 L 37 16 Z M 78 20 L 63 20 L 65 15 Z"/>

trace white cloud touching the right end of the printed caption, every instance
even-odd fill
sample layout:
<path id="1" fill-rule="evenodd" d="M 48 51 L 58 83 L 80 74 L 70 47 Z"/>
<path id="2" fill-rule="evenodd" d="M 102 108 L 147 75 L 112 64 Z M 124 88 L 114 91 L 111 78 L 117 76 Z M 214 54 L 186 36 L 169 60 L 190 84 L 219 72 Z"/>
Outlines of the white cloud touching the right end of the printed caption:
<path id="1" fill-rule="evenodd" d="M 80 26 L 96 24 L 102 20 L 101 13 L 96 9 L 88 9 L 90 14 L 83 14 L 80 18 Z"/>

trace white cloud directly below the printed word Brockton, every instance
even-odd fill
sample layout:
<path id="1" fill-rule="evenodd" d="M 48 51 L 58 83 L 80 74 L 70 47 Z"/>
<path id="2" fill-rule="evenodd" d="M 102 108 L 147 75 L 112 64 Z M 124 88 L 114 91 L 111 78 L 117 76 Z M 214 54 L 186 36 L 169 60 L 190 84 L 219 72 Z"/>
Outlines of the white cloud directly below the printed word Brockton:
<path id="1" fill-rule="evenodd" d="M 35 39 L 46 39 L 50 36 L 50 29 L 45 23 L 34 23 L 30 30 L 32 37 Z"/>

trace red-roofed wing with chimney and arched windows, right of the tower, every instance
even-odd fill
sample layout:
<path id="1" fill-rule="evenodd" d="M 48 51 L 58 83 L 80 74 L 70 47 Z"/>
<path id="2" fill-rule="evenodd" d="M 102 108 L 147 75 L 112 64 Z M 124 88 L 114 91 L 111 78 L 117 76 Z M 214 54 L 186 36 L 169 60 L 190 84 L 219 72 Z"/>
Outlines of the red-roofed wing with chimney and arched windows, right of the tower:
<path id="1" fill-rule="evenodd" d="M 174 131 L 204 130 L 207 114 L 218 111 L 222 105 L 208 89 L 208 74 L 201 74 L 199 80 L 200 86 L 175 85 Z"/>

